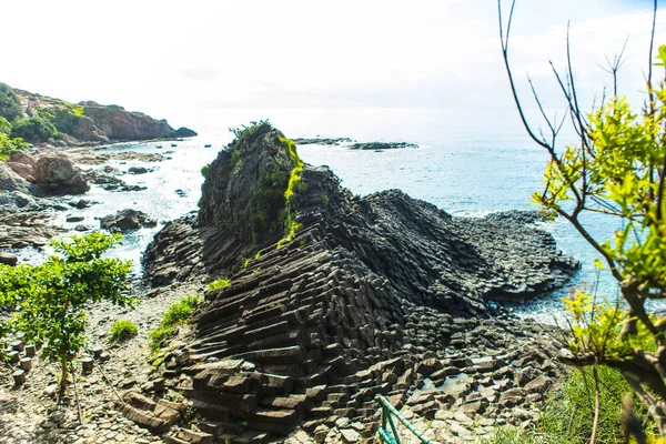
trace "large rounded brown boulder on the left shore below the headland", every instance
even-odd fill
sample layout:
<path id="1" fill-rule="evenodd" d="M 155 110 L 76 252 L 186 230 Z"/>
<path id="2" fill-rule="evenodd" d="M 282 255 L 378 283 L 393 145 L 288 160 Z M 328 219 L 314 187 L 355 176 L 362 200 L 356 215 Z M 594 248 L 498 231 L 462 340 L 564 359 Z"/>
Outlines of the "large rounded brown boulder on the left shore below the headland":
<path id="1" fill-rule="evenodd" d="M 81 194 L 90 190 L 81 171 L 67 154 L 49 153 L 37 158 L 33 168 L 34 182 L 49 194 Z"/>

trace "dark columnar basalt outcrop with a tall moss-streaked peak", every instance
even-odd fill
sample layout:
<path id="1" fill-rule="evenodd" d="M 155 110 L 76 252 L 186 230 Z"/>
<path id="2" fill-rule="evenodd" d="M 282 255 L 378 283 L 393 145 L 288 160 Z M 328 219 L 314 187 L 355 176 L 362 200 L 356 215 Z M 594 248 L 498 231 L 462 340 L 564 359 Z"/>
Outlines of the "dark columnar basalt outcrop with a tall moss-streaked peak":
<path id="1" fill-rule="evenodd" d="M 278 130 L 244 131 L 208 169 L 199 214 L 144 255 L 153 285 L 231 279 L 164 361 L 219 438 L 316 435 L 340 417 L 369 437 L 377 394 L 402 405 L 425 377 L 519 343 L 525 327 L 490 321 L 490 301 L 552 291 L 576 268 L 529 213 L 453 218 L 401 191 L 353 196 L 300 165 Z"/>

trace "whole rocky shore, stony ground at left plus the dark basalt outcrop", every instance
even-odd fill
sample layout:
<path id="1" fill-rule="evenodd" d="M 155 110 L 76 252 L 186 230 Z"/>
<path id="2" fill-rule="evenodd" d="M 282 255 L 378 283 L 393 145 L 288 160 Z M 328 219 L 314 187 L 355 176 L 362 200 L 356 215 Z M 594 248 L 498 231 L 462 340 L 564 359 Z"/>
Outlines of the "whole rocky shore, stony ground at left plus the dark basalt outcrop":
<path id="1" fill-rule="evenodd" d="M 74 175 L 119 192 L 129 190 L 109 159 L 164 159 L 62 155 Z M 0 249 L 43 244 L 60 233 L 44 214 L 94 204 L 54 201 L 58 182 L 44 188 L 34 168 L 22 171 L 33 180 L 0 163 Z M 398 190 L 355 196 L 270 124 L 245 130 L 202 173 L 198 213 L 169 222 L 144 253 L 139 310 L 90 307 L 98 343 L 114 320 L 141 325 L 109 347 L 123 401 L 85 376 L 90 418 L 79 424 L 71 397 L 50 406 L 49 364 L 36 361 L 26 386 L 0 387 L 0 443 L 363 443 L 376 433 L 380 394 L 442 443 L 538 416 L 565 372 L 553 332 L 502 305 L 556 290 L 578 264 L 535 213 L 455 218 Z M 137 229 L 149 216 L 119 212 L 104 226 Z M 216 279 L 231 285 L 206 290 Z M 148 362 L 148 332 L 188 294 L 205 301 Z"/>

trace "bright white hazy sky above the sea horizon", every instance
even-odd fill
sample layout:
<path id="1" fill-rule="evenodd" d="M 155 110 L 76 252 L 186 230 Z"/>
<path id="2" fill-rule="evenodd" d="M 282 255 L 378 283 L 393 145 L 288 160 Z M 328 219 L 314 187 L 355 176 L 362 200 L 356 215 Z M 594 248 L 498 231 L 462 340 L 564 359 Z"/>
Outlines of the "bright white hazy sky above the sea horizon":
<path id="1" fill-rule="evenodd" d="M 620 93 L 636 95 L 645 89 L 652 8 L 649 0 L 517 0 L 509 57 L 521 91 L 529 74 L 546 107 L 557 103 L 548 60 L 565 67 L 571 21 L 585 101 L 610 85 L 602 67 L 625 41 Z M 31 0 L 3 3 L 2 14 L 0 81 L 121 104 L 174 127 L 229 108 L 512 105 L 495 0 Z"/>

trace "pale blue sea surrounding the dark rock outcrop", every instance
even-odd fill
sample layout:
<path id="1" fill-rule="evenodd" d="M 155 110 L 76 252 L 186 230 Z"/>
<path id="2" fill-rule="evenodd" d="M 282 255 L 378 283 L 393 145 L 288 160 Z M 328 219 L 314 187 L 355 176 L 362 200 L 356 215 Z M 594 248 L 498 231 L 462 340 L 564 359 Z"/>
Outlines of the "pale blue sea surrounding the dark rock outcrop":
<path id="1" fill-rule="evenodd" d="M 141 255 L 154 234 L 169 221 L 196 211 L 203 178 L 201 168 L 231 142 L 230 128 L 270 120 L 287 138 L 351 138 L 361 142 L 411 142 L 417 148 L 381 152 L 350 150 L 346 145 L 301 145 L 299 153 L 313 165 L 329 165 L 342 185 L 354 194 L 400 189 L 413 198 L 431 202 L 458 216 L 481 218 L 506 210 L 536 210 L 531 194 L 543 189 L 547 153 L 525 132 L 515 108 L 334 108 L 334 109 L 228 109 L 206 117 L 200 135 L 174 142 L 123 143 L 104 151 L 161 153 L 163 162 L 115 161 L 127 172 L 130 167 L 147 167 L 147 174 L 124 174 L 129 184 L 147 188 L 138 192 L 109 192 L 93 186 L 83 199 L 98 202 L 84 210 L 60 212 L 57 223 L 73 230 L 84 223 L 99 226 L 99 218 L 125 208 L 141 210 L 159 221 L 155 229 L 142 229 L 124 236 L 122 246 L 111 254 L 134 262 L 141 273 Z M 538 129 L 538 124 L 535 123 Z M 575 143 L 563 132 L 561 148 Z M 172 147 L 172 144 L 174 147 Z M 158 148 L 158 147 L 161 148 Z M 206 145 L 211 145 L 206 148 Z M 75 198 L 73 200 L 78 200 Z M 68 215 L 82 215 L 83 222 L 69 223 Z M 620 226 L 602 218 L 585 220 L 598 239 L 609 239 Z M 599 299 L 615 301 L 617 284 L 607 272 L 594 265 L 598 254 L 565 221 L 543 222 L 558 248 L 581 261 L 582 269 L 566 287 L 544 294 L 521 306 L 509 306 L 521 315 L 549 322 L 562 313 L 561 299 L 574 286 L 587 286 Z M 72 233 L 74 233 L 72 231 Z M 48 251 L 26 250 L 21 258 L 30 263 L 43 260 Z"/>

